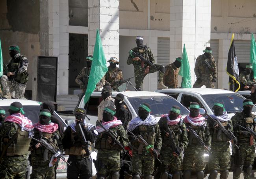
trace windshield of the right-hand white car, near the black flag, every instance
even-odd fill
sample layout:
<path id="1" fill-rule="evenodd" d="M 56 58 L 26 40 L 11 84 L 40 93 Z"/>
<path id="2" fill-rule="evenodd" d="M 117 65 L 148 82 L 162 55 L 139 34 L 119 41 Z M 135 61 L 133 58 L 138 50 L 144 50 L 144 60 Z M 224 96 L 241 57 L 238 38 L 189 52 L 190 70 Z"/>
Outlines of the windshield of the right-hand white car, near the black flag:
<path id="1" fill-rule="evenodd" d="M 243 100 L 245 98 L 239 94 L 205 94 L 202 95 L 204 101 L 208 104 L 212 110 L 213 104 L 215 102 L 221 102 L 228 113 L 236 113 L 238 111 L 243 111 Z M 256 107 L 253 106 L 252 112 L 256 111 Z"/>

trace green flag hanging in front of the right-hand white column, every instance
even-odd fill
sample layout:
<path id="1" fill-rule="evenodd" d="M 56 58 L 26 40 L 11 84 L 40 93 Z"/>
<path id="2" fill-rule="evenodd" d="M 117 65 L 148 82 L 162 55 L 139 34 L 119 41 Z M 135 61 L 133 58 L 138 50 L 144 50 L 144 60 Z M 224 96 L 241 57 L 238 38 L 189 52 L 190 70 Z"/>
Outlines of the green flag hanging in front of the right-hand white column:
<path id="1" fill-rule="evenodd" d="M 191 73 L 185 44 L 182 52 L 182 61 L 179 75 L 182 76 L 181 88 L 191 88 Z"/>

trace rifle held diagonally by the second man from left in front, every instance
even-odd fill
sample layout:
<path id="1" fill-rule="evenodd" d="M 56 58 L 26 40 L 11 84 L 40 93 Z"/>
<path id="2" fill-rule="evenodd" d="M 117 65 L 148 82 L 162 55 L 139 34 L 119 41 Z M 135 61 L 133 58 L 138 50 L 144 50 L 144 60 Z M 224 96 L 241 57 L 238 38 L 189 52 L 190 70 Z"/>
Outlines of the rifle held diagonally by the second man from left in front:
<path id="1" fill-rule="evenodd" d="M 52 152 L 54 155 L 57 155 L 59 158 L 61 158 L 64 162 L 67 163 L 68 166 L 70 166 L 71 162 L 67 162 L 65 161 L 65 158 L 63 157 L 63 154 L 61 153 L 61 151 L 59 149 L 54 148 L 53 144 L 49 144 L 48 142 L 46 142 L 45 139 L 41 138 L 40 140 L 37 140 L 36 138 L 33 138 L 33 140 L 39 142 L 42 146 L 45 147 L 45 153 L 44 153 L 44 159 L 45 161 L 48 160 L 48 151 Z"/>

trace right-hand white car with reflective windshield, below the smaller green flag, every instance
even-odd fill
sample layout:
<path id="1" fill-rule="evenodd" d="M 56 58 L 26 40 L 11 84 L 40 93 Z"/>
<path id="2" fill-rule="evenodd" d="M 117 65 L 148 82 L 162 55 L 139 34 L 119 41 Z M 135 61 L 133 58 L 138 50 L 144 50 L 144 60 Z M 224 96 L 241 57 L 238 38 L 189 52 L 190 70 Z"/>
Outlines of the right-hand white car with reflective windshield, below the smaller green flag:
<path id="1" fill-rule="evenodd" d="M 212 107 L 215 102 L 221 102 L 230 117 L 237 112 L 243 111 L 243 100 L 245 100 L 240 94 L 223 89 L 182 88 L 163 89 L 156 92 L 172 96 L 187 108 L 190 102 L 197 102 L 208 114 L 213 114 Z M 256 114 L 255 106 L 252 108 L 252 113 Z"/>

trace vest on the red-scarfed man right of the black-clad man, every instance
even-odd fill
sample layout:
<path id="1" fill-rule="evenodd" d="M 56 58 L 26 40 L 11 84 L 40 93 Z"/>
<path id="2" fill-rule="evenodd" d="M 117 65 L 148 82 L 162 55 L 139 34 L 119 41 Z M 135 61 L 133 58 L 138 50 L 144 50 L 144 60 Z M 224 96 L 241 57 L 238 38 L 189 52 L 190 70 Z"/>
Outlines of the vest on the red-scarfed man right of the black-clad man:
<path id="1" fill-rule="evenodd" d="M 115 133 L 117 136 L 117 140 L 119 140 L 120 136 L 117 133 L 117 127 L 111 128 L 111 131 Z M 98 138 L 95 142 L 95 148 L 96 149 L 113 149 L 113 150 L 120 150 L 120 147 L 113 143 L 112 139 L 109 137 L 109 135 L 105 132 L 98 135 Z"/>

